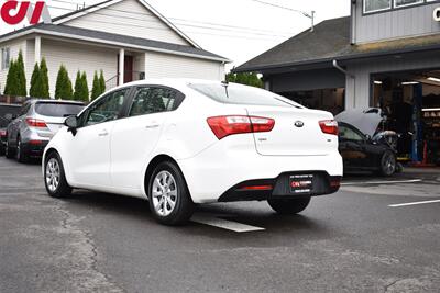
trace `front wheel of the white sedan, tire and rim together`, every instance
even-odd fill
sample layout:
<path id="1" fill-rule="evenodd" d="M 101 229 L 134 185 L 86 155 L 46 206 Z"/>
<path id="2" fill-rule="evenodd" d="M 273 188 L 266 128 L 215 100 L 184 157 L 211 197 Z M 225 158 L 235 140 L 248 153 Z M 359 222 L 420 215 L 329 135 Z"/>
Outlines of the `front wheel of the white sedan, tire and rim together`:
<path id="1" fill-rule="evenodd" d="M 58 183 L 56 184 L 56 182 Z M 67 183 L 64 172 L 63 161 L 56 151 L 50 153 L 44 161 L 44 185 L 52 198 L 62 199 L 72 194 L 72 188 Z"/>

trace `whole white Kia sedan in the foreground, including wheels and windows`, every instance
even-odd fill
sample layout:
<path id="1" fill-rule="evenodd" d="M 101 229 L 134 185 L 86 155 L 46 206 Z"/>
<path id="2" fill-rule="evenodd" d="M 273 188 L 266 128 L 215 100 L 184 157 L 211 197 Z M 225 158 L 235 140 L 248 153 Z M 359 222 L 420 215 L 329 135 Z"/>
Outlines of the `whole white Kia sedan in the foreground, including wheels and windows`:
<path id="1" fill-rule="evenodd" d="M 50 195 L 80 188 L 139 196 L 167 225 L 213 202 L 267 201 L 296 214 L 338 191 L 342 177 L 332 114 L 246 86 L 132 82 L 65 125 L 44 151 Z"/>

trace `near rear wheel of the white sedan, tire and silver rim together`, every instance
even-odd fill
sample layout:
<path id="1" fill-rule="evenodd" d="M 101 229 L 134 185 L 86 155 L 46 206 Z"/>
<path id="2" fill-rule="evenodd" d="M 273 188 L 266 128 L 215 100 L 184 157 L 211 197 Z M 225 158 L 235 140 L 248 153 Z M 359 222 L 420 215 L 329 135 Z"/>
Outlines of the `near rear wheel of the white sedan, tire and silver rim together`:
<path id="1" fill-rule="evenodd" d="M 178 226 L 191 217 L 195 204 L 180 169 L 170 161 L 157 165 L 148 179 L 148 202 L 154 218 Z M 174 205 L 174 206 L 173 206 Z"/>

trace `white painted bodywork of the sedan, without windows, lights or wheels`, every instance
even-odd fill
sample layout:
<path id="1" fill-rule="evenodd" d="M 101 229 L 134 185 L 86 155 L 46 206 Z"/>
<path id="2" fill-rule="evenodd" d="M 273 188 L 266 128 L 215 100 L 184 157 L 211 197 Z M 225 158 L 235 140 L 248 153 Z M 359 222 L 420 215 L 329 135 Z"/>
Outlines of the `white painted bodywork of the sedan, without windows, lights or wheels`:
<path id="1" fill-rule="evenodd" d="M 167 156 L 182 170 L 194 203 L 240 200 L 240 196 L 228 199 L 227 191 L 249 180 L 275 180 L 283 173 L 322 172 L 336 181 L 342 177 L 338 136 L 323 133 L 319 124 L 320 121 L 331 122 L 332 114 L 288 100 L 277 100 L 277 106 L 221 103 L 188 84 L 226 87 L 216 81 L 187 79 L 124 84 L 111 92 L 161 86 L 175 89 L 185 99 L 174 111 L 79 127 L 75 136 L 65 127 L 47 145 L 45 156 L 50 150 L 59 154 L 66 180 L 73 188 L 142 199 L 147 199 L 148 165 L 158 156 Z M 228 87 L 258 94 L 264 91 L 233 83 Z M 273 99 L 283 99 L 270 94 Z M 267 117 L 274 120 L 275 125 L 270 132 L 219 139 L 207 122 L 217 116 Z M 295 126 L 296 122 L 302 125 Z M 45 158 L 43 173 L 44 162 Z M 338 188 L 336 182 L 331 190 L 321 193 L 332 193 Z"/>

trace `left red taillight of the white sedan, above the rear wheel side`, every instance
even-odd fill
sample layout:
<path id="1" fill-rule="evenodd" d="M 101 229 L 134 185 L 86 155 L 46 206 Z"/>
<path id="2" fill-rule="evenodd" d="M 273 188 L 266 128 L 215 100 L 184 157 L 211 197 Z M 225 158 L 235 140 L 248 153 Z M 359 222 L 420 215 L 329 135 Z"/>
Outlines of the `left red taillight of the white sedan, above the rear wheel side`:
<path id="1" fill-rule="evenodd" d="M 209 117 L 207 121 L 219 139 L 233 134 L 271 132 L 275 126 L 273 119 L 244 115 Z"/>

